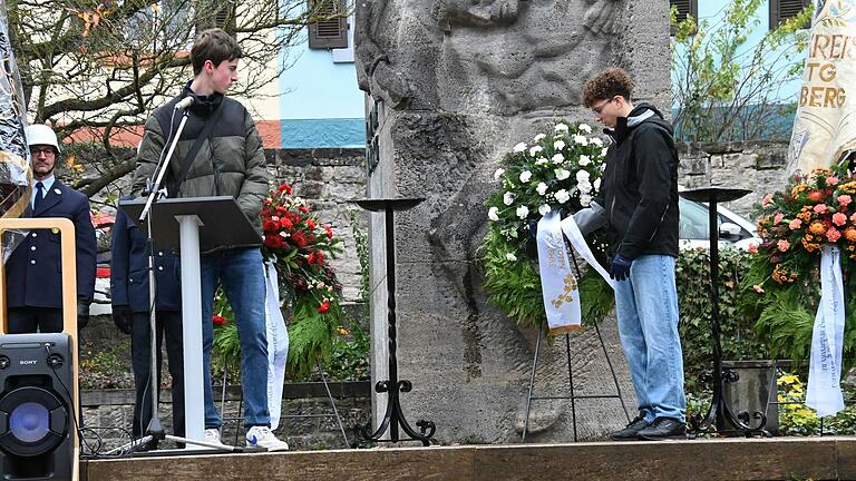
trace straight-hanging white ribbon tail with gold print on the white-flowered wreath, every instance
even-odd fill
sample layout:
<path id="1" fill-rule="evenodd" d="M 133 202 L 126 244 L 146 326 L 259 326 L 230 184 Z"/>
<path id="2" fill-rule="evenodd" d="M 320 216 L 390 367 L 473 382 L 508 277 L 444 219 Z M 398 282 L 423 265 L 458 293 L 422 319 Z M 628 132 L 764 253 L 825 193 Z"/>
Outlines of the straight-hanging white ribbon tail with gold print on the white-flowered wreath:
<path id="1" fill-rule="evenodd" d="M 548 213 L 538 220 L 538 268 L 544 296 L 544 311 L 553 335 L 582 328 L 580 289 L 567 263 L 567 249 L 562 237 L 558 213 Z"/>

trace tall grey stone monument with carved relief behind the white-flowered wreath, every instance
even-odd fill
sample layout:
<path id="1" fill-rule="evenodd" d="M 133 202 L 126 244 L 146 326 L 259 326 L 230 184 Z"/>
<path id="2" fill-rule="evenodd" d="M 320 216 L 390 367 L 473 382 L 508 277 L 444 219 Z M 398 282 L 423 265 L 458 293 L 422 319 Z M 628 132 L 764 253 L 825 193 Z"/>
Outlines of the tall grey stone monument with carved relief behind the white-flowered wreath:
<path id="1" fill-rule="evenodd" d="M 557 118 L 593 122 L 585 80 L 611 66 L 668 111 L 669 3 L 630 0 L 357 0 L 367 92 L 369 197 L 425 197 L 397 214 L 399 377 L 412 425 L 444 443 L 519 442 L 537 332 L 487 304 L 477 248 L 493 173 Z M 383 217 L 372 214 L 372 381 L 387 376 Z M 631 416 L 635 397 L 614 320 L 601 327 Z M 542 343 L 542 346 L 544 344 Z M 614 394 L 593 330 L 572 335 L 577 395 Z M 566 395 L 564 342 L 542 350 L 536 395 Z M 373 403 L 376 423 L 386 394 Z M 568 401 L 533 403 L 527 442 L 570 441 Z M 581 439 L 626 423 L 617 400 L 577 401 Z"/>

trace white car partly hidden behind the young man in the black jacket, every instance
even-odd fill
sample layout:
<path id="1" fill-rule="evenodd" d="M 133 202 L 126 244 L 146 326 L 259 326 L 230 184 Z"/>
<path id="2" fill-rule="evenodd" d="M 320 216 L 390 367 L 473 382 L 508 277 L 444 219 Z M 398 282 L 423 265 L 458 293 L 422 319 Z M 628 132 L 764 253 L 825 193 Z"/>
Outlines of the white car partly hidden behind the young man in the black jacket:
<path id="1" fill-rule="evenodd" d="M 679 197 L 681 220 L 679 239 L 681 248 L 710 246 L 710 217 L 708 205 Z M 736 214 L 721 205 L 717 206 L 719 214 L 719 245 L 748 249 L 751 244 L 760 244 L 758 228 L 755 223 Z"/>

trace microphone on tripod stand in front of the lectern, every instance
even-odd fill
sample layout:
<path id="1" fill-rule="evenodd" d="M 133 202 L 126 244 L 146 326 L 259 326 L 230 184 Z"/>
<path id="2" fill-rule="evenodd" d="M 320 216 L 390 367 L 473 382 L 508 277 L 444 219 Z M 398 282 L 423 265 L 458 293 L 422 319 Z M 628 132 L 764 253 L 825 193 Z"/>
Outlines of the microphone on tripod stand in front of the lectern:
<path id="1" fill-rule="evenodd" d="M 178 109 L 176 109 L 178 110 Z M 173 112 L 175 115 L 175 112 Z M 178 145 L 178 139 L 182 137 L 182 131 L 184 130 L 185 124 L 187 124 L 187 117 L 188 111 L 185 108 L 184 115 L 182 115 L 182 121 L 178 124 L 178 130 L 176 130 L 175 136 L 173 137 L 172 144 L 169 144 L 169 149 L 166 153 L 166 157 L 157 165 L 156 167 L 156 176 L 155 181 L 152 184 L 148 189 L 148 198 L 146 199 L 146 205 L 143 208 L 143 212 L 139 215 L 139 222 L 146 223 L 147 227 L 147 243 L 148 243 L 148 298 L 149 298 L 149 389 L 152 391 L 152 420 L 148 422 L 148 426 L 146 429 L 146 435 L 138 439 L 133 440 L 129 443 L 123 444 L 111 451 L 109 451 L 107 454 L 119 454 L 125 452 L 133 452 L 136 449 L 138 449 L 142 445 L 145 445 L 152 441 L 160 442 L 164 440 L 175 441 L 179 443 L 185 444 L 196 444 L 205 448 L 212 448 L 214 450 L 218 451 L 226 451 L 226 452 L 244 452 L 246 449 L 243 446 L 233 446 L 233 445 L 226 445 L 226 444 L 217 444 L 217 443 L 210 443 L 202 440 L 196 439 L 188 439 L 188 438 L 182 438 L 176 435 L 166 434 L 164 431 L 164 425 L 160 423 L 160 415 L 158 412 L 157 406 L 157 395 L 159 391 L 159 376 L 157 375 L 158 372 L 158 363 L 157 363 L 157 304 L 155 301 L 155 294 L 156 294 L 156 279 L 155 279 L 155 248 L 154 248 L 154 238 L 152 235 L 152 206 L 162 198 L 162 195 L 165 194 L 160 189 L 160 183 L 164 180 L 164 175 L 166 174 L 167 168 L 169 168 L 169 161 L 173 158 L 173 154 L 175 153 L 175 147 Z M 166 147 L 166 146 L 165 146 Z M 188 159 L 189 161 L 191 159 Z M 183 302 L 187 302 L 187 300 L 183 300 Z M 175 408 L 173 408 L 175 409 Z M 142 410 L 142 408 L 140 408 Z M 186 411 L 186 405 L 185 405 Z M 184 452 L 184 450 L 178 450 L 178 452 Z M 164 453 L 164 451 L 160 451 L 159 453 Z"/>

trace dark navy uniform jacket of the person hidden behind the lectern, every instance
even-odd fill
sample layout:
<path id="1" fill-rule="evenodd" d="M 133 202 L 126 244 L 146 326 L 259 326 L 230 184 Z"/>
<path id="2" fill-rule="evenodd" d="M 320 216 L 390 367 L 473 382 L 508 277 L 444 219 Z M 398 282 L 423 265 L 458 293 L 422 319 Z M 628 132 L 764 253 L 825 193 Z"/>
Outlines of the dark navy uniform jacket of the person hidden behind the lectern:
<path id="1" fill-rule="evenodd" d="M 130 197 L 127 197 L 130 198 Z M 116 215 L 110 242 L 110 302 L 130 312 L 148 312 L 148 239 L 123 210 Z M 178 265 L 168 249 L 155 247 L 155 302 L 158 311 L 181 311 Z"/>

